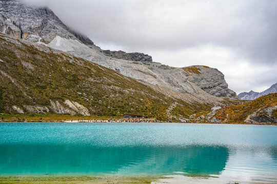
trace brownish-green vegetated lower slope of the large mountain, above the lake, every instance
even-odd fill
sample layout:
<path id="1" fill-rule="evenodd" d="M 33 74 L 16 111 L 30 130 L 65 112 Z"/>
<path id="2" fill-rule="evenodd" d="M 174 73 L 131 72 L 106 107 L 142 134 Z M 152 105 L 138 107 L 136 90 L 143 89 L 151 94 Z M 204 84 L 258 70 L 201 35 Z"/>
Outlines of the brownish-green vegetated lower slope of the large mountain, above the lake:
<path id="1" fill-rule="evenodd" d="M 5 34 L 0 34 L 0 42 L 2 113 L 97 116 L 132 113 L 167 120 L 166 110 L 174 102 L 177 118 L 188 118 L 195 111 L 212 106 L 204 101 L 206 97 L 200 99 L 187 94 L 191 102 L 169 97 L 143 81 L 41 44 Z"/>

